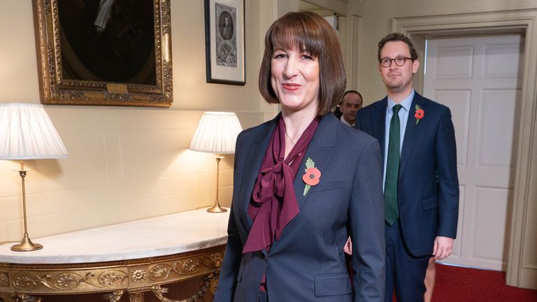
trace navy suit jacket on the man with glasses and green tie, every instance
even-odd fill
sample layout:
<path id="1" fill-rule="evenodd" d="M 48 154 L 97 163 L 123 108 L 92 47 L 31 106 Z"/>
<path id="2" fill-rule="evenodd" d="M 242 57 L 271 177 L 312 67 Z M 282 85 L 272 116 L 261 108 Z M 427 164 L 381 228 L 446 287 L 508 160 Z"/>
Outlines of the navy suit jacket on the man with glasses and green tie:
<path id="1" fill-rule="evenodd" d="M 385 97 L 358 110 L 355 122 L 378 139 L 382 158 L 387 103 Z M 417 124 L 416 105 L 424 110 Z M 408 113 L 397 191 L 403 238 L 414 256 L 431 254 L 436 236 L 457 236 L 459 180 L 451 112 L 417 92 Z"/>

